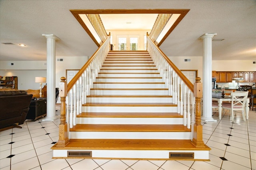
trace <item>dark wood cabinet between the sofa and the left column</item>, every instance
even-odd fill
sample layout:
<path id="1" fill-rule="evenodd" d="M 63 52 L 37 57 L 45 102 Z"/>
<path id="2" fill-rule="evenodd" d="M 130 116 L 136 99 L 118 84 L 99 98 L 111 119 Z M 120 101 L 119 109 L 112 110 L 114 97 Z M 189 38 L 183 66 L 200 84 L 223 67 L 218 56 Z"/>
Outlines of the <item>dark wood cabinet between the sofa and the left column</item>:
<path id="1" fill-rule="evenodd" d="M 36 120 L 46 116 L 47 99 L 31 100 L 26 119 Z"/>

